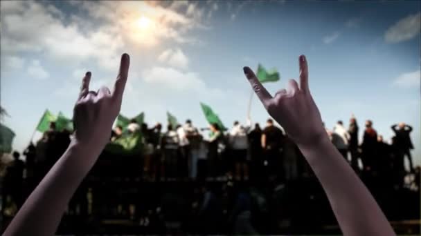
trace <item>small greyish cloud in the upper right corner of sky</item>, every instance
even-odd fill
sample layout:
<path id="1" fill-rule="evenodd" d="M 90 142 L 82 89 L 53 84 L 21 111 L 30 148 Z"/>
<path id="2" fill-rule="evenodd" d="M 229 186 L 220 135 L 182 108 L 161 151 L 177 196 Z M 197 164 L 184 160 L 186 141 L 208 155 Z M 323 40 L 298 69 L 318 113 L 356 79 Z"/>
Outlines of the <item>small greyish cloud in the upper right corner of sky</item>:
<path id="1" fill-rule="evenodd" d="M 388 43 L 399 43 L 413 39 L 420 34 L 421 29 L 421 12 L 411 14 L 404 19 L 400 19 L 393 26 L 388 28 L 384 34 L 384 39 Z"/>

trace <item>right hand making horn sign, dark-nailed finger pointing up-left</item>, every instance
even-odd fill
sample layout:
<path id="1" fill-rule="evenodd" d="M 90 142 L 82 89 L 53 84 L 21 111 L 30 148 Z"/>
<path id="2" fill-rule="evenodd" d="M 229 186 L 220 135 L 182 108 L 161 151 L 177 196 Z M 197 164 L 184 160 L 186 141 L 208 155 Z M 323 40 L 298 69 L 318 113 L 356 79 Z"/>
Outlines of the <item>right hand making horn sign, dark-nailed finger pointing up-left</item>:
<path id="1" fill-rule="evenodd" d="M 328 138 L 323 128 L 319 109 L 313 101 L 308 86 L 307 60 L 299 57 L 300 86 L 294 79 L 288 81 L 287 90 L 281 89 L 272 97 L 254 75 L 253 70 L 244 67 L 244 74 L 271 117 L 282 126 L 296 144 L 312 144 L 321 138 Z"/>

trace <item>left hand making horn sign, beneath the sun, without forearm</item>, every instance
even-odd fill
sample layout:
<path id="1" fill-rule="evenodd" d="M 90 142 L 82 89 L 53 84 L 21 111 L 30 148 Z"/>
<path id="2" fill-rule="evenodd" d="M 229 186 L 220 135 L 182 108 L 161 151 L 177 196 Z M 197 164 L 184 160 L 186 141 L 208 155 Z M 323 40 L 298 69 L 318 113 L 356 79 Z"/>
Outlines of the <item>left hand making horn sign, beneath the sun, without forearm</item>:
<path id="1" fill-rule="evenodd" d="M 120 112 L 123 92 L 127 81 L 130 58 L 123 54 L 114 90 L 102 86 L 98 92 L 89 91 L 91 72 L 82 79 L 80 95 L 73 112 L 75 141 L 102 150 L 111 133 L 112 124 Z"/>

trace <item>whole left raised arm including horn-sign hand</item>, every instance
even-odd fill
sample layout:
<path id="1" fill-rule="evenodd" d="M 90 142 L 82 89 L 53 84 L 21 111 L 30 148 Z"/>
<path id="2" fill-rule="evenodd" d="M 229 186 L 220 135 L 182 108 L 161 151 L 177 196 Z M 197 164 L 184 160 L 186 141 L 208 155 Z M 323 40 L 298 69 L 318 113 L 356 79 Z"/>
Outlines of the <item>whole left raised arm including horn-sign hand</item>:
<path id="1" fill-rule="evenodd" d="M 71 196 L 95 164 L 108 142 L 112 124 L 120 112 L 129 70 L 123 54 L 114 90 L 89 91 L 91 72 L 82 79 L 75 104 L 75 132 L 66 152 L 30 194 L 3 235 L 54 235 Z"/>

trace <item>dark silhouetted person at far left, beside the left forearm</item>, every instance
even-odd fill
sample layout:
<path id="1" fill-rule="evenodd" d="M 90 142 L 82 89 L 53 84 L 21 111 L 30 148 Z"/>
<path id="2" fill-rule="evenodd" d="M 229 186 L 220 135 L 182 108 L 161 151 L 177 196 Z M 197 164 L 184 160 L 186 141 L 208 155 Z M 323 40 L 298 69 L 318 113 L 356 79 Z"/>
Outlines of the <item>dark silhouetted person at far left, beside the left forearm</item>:
<path id="1" fill-rule="evenodd" d="M 24 161 L 19 159 L 20 154 L 18 152 L 13 152 L 13 161 L 9 164 L 7 168 L 7 173 L 5 177 L 5 189 L 6 195 L 10 195 L 12 197 L 12 201 L 15 202 L 17 208 L 23 204 L 22 199 L 22 187 L 23 187 L 23 180 L 24 180 L 24 168 L 25 164 Z"/>

